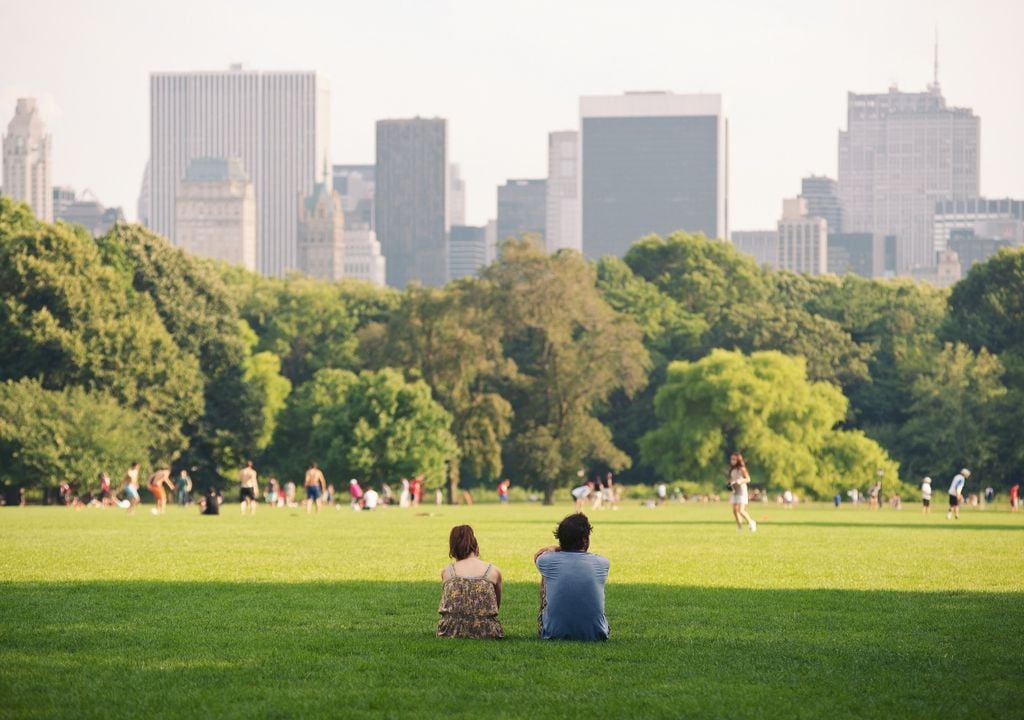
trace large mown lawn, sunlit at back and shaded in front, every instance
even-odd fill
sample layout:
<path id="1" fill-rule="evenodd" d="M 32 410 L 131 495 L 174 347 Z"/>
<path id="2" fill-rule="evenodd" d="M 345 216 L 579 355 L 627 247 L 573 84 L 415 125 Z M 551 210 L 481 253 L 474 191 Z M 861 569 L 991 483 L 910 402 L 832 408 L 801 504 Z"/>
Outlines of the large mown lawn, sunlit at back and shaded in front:
<path id="1" fill-rule="evenodd" d="M 568 505 L 421 510 L 4 509 L 0 717 L 1024 716 L 1024 515 L 594 512 L 612 637 L 583 644 L 536 639 Z M 503 641 L 433 635 L 463 522 Z"/>

